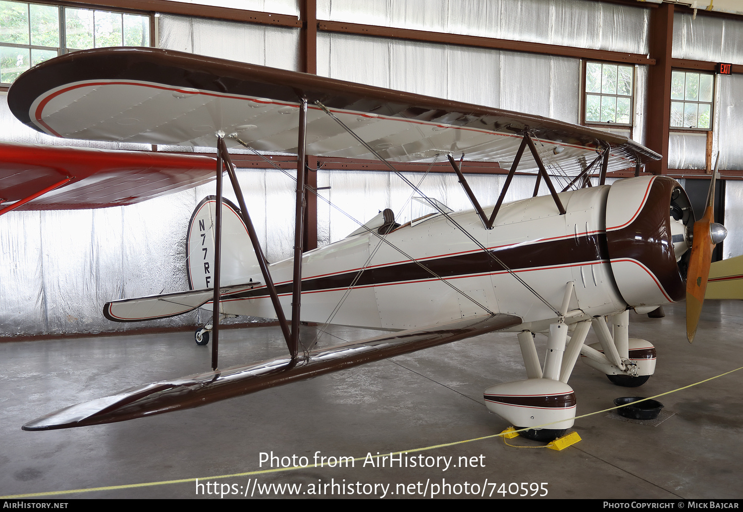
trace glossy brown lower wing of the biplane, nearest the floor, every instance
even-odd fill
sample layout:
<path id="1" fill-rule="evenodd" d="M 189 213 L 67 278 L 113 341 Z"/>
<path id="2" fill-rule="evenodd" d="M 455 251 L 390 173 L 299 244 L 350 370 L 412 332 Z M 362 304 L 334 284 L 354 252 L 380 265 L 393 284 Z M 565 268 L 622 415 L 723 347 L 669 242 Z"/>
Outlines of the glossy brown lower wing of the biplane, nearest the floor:
<path id="1" fill-rule="evenodd" d="M 510 314 L 469 317 L 427 328 L 384 334 L 368 340 L 318 349 L 312 351 L 309 357 L 294 362 L 288 356 L 277 357 L 262 363 L 135 386 L 108 397 L 59 409 L 50 415 L 30 421 L 23 426 L 23 430 L 84 427 L 143 418 L 178 409 L 190 409 L 296 380 L 337 372 L 351 366 L 498 331 L 521 322 L 521 318 Z"/>

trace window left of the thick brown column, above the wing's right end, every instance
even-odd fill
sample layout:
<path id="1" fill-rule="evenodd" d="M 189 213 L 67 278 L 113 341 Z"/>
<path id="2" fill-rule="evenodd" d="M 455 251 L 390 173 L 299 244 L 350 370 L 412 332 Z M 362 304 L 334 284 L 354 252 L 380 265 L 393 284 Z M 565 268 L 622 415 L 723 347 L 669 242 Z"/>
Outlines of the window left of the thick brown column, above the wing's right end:
<path id="1" fill-rule="evenodd" d="M 585 63 L 585 123 L 632 126 L 635 68 Z"/>

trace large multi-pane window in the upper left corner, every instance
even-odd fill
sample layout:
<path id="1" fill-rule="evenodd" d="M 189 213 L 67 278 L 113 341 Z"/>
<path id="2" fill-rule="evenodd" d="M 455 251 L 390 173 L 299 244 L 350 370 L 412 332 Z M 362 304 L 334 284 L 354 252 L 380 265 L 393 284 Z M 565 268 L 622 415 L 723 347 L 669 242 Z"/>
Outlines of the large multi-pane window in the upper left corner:
<path id="1" fill-rule="evenodd" d="M 57 55 L 149 46 L 149 16 L 0 0 L 0 83 Z"/>

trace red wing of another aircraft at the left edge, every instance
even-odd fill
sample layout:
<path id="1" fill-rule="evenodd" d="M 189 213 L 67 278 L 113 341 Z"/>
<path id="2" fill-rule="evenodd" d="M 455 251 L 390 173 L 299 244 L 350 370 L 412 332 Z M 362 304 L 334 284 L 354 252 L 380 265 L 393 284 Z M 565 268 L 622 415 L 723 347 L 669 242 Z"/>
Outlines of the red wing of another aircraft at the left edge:
<path id="1" fill-rule="evenodd" d="M 207 183 L 215 169 L 201 155 L 0 143 L 0 210 L 123 206 Z"/>

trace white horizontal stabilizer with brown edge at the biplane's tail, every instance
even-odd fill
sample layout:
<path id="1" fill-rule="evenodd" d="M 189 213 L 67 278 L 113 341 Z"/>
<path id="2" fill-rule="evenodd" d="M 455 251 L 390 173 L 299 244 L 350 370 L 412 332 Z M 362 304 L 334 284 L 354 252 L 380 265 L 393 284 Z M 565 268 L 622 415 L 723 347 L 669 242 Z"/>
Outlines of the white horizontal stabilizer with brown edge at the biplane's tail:
<path id="1" fill-rule="evenodd" d="M 244 285 L 225 286 L 219 289 L 220 301 L 252 290 L 261 283 L 247 282 Z M 152 295 L 138 299 L 122 299 L 106 302 L 103 316 L 114 322 L 142 322 L 158 318 L 175 317 L 188 313 L 214 298 L 214 288 L 178 291 L 175 294 Z"/>

